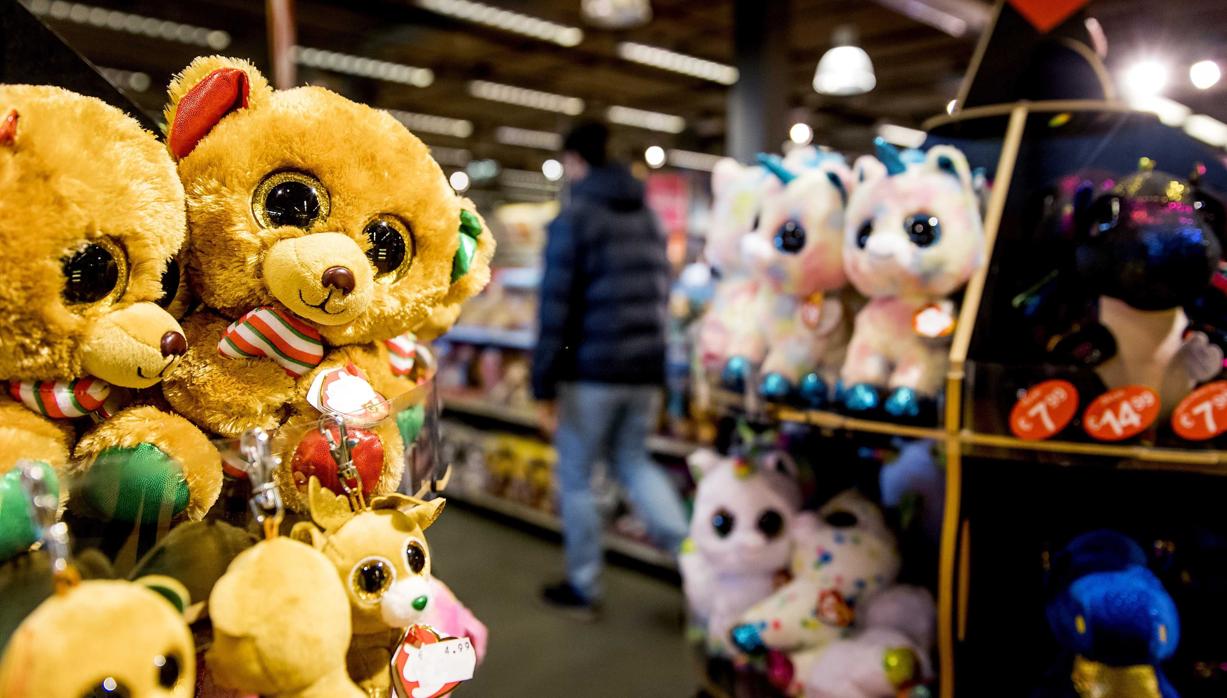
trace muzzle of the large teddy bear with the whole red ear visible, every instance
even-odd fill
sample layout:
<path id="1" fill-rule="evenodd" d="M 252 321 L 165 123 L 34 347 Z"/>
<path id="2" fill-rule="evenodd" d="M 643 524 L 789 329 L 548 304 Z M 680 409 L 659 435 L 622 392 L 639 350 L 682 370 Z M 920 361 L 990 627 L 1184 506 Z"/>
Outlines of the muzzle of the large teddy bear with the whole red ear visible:
<path id="1" fill-rule="evenodd" d="M 352 323 L 374 294 L 374 274 L 358 243 L 341 233 L 312 233 L 276 242 L 264 256 L 272 297 L 320 325 Z"/>

